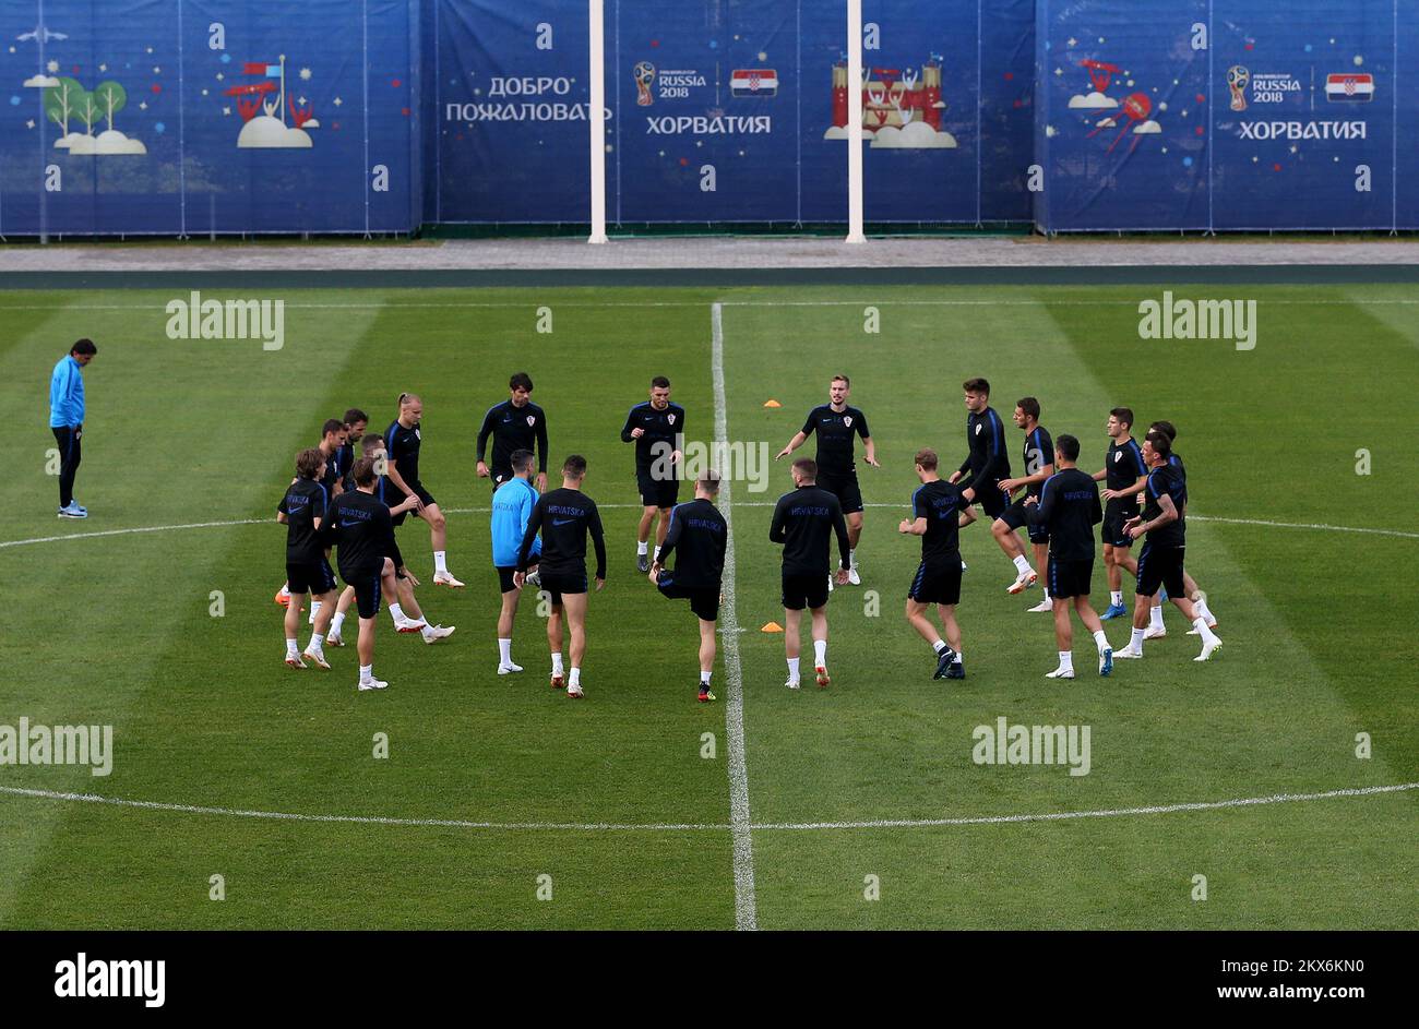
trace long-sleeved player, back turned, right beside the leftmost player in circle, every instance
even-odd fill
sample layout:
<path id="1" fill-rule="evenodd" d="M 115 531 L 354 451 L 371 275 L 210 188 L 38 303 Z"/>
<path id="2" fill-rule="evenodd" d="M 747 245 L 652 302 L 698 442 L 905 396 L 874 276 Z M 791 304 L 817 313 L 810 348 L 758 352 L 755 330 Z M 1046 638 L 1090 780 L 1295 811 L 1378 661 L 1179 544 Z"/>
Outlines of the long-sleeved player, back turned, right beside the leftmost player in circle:
<path id="1" fill-rule="evenodd" d="M 359 605 L 359 688 L 383 690 L 389 683 L 375 678 L 375 616 L 382 593 L 394 590 L 394 562 L 387 556 L 394 546 L 394 525 L 389 508 L 375 497 L 375 463 L 359 458 L 353 475 L 355 488 L 331 504 L 328 531 L 341 578 L 355 588 Z"/>

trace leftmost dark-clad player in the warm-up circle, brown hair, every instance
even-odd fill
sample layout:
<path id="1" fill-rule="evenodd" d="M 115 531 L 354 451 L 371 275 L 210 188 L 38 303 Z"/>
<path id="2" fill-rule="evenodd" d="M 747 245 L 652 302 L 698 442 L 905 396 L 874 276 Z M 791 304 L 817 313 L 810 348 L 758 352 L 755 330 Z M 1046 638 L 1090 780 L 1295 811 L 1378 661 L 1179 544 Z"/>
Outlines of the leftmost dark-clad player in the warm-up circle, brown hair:
<path id="1" fill-rule="evenodd" d="M 292 668 L 304 668 L 305 661 L 322 668 L 331 667 L 325 660 L 325 632 L 335 612 L 335 572 L 325 558 L 321 534 L 331 502 L 329 493 L 321 483 L 325 464 L 325 453 L 319 447 L 297 454 L 295 481 L 287 488 L 275 514 L 275 519 L 287 527 L 285 580 L 289 595 L 295 598 L 295 603 L 285 607 L 285 663 Z M 307 592 L 312 596 L 312 607 L 321 603 L 321 613 L 315 617 L 311 643 L 302 654 L 297 649 L 297 633 L 301 626 L 301 598 Z"/>

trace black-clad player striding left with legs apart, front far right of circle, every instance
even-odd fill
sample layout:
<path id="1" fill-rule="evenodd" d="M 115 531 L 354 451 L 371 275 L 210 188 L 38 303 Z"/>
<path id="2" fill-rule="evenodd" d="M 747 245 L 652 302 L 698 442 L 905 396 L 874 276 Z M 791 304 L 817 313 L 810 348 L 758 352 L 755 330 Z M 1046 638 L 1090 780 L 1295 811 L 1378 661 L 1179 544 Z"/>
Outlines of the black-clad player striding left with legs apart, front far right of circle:
<path id="1" fill-rule="evenodd" d="M 1172 440 L 1168 434 L 1152 429 L 1144 437 L 1144 463 L 1148 466 L 1148 483 L 1144 490 L 1144 512 L 1130 519 L 1127 528 L 1134 539 L 1144 534 L 1148 542 L 1138 555 L 1138 585 L 1134 589 L 1134 632 L 1128 646 L 1115 657 L 1142 657 L 1144 639 L 1148 634 L 1148 612 L 1159 586 L 1168 589 L 1168 598 L 1178 610 L 1192 622 L 1202 636 L 1202 653 L 1193 660 L 1206 661 L 1222 646 L 1222 640 L 1208 627 L 1206 619 L 1198 613 L 1186 598 L 1182 585 L 1182 558 L 1186 542 L 1188 487 L 1181 474 L 1168 466 L 1172 456 Z"/>

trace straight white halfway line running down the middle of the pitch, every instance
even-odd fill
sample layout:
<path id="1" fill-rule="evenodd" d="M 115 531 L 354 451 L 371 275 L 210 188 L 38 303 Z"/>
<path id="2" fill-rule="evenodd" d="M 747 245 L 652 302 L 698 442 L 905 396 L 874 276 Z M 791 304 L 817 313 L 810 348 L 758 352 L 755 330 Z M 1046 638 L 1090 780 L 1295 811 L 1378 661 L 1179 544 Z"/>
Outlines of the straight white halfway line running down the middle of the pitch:
<path id="1" fill-rule="evenodd" d="M 714 437 L 729 443 L 729 406 L 724 392 L 724 308 L 710 308 L 710 369 L 714 379 Z M 729 545 L 724 551 L 724 676 L 727 680 L 724 724 L 729 738 L 729 823 L 734 837 L 734 927 L 756 930 L 758 904 L 753 897 L 753 835 L 749 818 L 749 771 L 744 754 L 744 671 L 739 664 L 739 622 L 734 606 L 734 502 L 729 480 L 719 487 L 719 511 L 724 514 Z"/>

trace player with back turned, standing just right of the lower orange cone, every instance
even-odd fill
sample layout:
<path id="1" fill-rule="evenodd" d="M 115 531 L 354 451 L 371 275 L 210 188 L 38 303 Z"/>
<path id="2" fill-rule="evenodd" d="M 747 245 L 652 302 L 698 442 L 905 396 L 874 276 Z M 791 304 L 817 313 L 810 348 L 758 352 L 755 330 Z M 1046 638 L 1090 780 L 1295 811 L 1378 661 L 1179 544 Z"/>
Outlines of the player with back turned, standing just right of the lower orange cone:
<path id="1" fill-rule="evenodd" d="M 817 461 L 800 457 L 793 461 L 793 491 L 779 497 L 779 502 L 773 507 L 773 522 L 769 525 L 769 539 L 783 544 L 783 651 L 789 661 L 789 678 L 785 686 L 790 690 L 799 688 L 799 622 L 805 607 L 809 609 L 813 623 L 813 673 L 817 686 L 822 690 L 830 681 L 826 580 L 829 548 L 834 534 L 841 559 L 837 585 L 846 586 L 853 559 L 843 505 L 836 494 L 817 485 Z"/>

